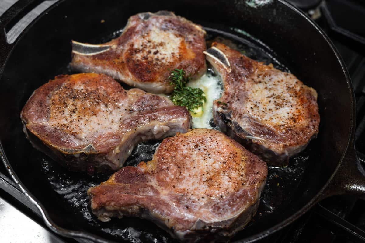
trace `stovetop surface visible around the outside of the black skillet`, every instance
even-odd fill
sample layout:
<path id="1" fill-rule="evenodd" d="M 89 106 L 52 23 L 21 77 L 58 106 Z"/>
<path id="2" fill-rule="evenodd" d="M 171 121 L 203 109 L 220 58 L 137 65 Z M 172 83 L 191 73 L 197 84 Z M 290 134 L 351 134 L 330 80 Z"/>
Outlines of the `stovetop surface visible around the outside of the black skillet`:
<path id="1" fill-rule="evenodd" d="M 357 103 L 355 143 L 360 161 L 365 163 L 365 4 L 349 0 L 289 0 L 315 20 L 328 34 L 341 54 L 353 83 Z M 2 0 L 0 14 L 15 0 Z M 19 23 L 10 38 L 16 38 L 27 23 L 57 2 L 45 1 Z M 347 11 L 347 12 L 346 12 Z M 351 14 L 350 14 L 351 13 Z M 351 16 L 350 16 L 351 15 Z M 362 19 L 361 19 L 362 18 Z M 354 26 L 358 23 L 358 26 Z M 0 242 L 89 242 L 62 238 L 43 223 L 38 210 L 9 179 L 0 165 Z M 5 189 L 5 190 L 3 190 Z M 323 200 L 299 220 L 259 243 L 355 243 L 365 242 L 365 201 L 351 196 L 334 196 Z M 11 217 L 9 219 L 9 217 Z M 16 217 L 17 220 L 14 220 Z M 17 222 L 25 222 L 19 224 Z M 27 234 L 21 232 L 27 230 Z M 11 235 L 11 237 L 9 237 Z M 22 235 L 26 238 L 22 238 Z M 7 237 L 7 238 L 5 238 Z"/>

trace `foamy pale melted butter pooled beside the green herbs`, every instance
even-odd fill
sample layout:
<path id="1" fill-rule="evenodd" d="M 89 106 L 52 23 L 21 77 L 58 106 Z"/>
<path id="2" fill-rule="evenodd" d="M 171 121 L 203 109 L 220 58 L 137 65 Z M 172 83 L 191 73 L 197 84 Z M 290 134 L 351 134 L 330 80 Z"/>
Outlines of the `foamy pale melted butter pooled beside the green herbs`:
<path id="1" fill-rule="evenodd" d="M 203 105 L 203 109 L 196 110 L 192 114 L 192 128 L 213 128 L 210 120 L 213 119 L 212 107 L 213 101 L 219 99 L 222 95 L 223 87 L 219 76 L 214 76 L 210 71 L 205 73 L 200 79 L 190 81 L 187 86 L 193 88 L 201 88 L 204 91 L 207 101 Z"/>

